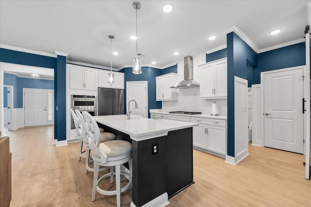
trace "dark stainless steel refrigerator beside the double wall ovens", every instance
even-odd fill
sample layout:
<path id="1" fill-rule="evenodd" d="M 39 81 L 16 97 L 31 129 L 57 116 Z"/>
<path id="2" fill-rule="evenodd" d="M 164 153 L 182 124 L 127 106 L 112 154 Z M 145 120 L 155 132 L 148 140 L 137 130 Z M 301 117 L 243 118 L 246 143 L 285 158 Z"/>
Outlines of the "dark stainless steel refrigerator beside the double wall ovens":
<path id="1" fill-rule="evenodd" d="M 98 115 L 125 114 L 124 89 L 98 88 Z"/>

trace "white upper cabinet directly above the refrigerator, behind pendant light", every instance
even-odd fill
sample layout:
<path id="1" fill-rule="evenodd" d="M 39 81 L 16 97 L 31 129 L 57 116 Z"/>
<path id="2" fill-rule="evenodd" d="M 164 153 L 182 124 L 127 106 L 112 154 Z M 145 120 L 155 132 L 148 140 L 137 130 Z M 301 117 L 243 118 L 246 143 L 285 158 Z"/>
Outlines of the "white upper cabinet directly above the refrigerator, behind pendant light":
<path id="1" fill-rule="evenodd" d="M 112 85 L 108 83 L 109 73 L 110 73 L 109 70 L 99 70 L 98 86 L 104 88 L 124 89 L 124 73 L 113 71 L 113 73 L 115 74 L 115 82 L 112 83 Z"/>

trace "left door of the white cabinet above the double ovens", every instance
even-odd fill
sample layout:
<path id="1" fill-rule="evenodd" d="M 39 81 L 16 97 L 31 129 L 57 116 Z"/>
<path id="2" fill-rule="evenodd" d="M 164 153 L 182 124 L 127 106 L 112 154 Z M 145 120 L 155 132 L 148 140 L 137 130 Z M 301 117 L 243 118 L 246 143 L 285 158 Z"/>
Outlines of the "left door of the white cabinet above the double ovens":
<path id="1" fill-rule="evenodd" d="M 84 89 L 84 68 L 70 65 L 70 89 Z"/>

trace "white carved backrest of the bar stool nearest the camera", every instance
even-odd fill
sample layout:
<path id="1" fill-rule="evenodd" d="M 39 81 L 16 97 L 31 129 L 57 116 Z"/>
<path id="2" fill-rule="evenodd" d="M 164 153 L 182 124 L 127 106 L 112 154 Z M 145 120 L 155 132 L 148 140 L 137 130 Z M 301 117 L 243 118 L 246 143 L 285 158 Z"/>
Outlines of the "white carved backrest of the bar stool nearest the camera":
<path id="1" fill-rule="evenodd" d="M 107 162 L 107 155 L 99 148 L 100 144 L 100 131 L 99 127 L 94 118 L 87 111 L 82 111 L 83 118 L 86 121 L 87 133 L 86 138 L 88 144 L 92 150 L 96 150 L 98 155 L 101 157 L 101 162 Z"/>

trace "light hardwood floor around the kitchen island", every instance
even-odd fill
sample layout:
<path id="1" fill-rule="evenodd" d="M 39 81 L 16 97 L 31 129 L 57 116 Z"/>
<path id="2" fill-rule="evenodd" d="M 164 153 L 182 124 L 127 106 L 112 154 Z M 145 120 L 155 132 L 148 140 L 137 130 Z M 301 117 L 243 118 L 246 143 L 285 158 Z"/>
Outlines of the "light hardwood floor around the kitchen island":
<path id="1" fill-rule="evenodd" d="M 93 173 L 85 175 L 85 159 L 77 161 L 78 143 L 55 147 L 53 127 L 2 136 L 10 136 L 11 207 L 116 206 L 115 196 L 98 193 L 91 202 Z M 236 166 L 196 150 L 193 159 L 195 184 L 171 198 L 169 207 L 311 207 L 303 155 L 249 145 L 249 156 Z M 130 206 L 131 196 L 131 190 L 121 194 L 122 207 Z"/>

